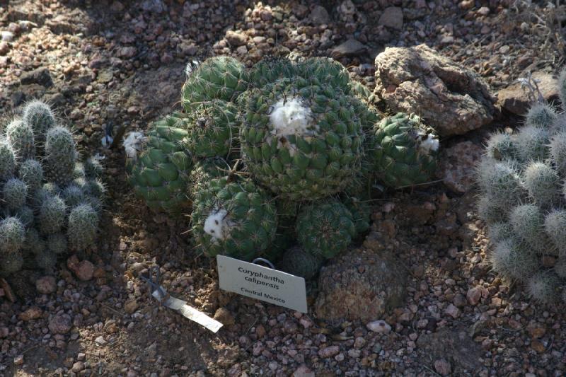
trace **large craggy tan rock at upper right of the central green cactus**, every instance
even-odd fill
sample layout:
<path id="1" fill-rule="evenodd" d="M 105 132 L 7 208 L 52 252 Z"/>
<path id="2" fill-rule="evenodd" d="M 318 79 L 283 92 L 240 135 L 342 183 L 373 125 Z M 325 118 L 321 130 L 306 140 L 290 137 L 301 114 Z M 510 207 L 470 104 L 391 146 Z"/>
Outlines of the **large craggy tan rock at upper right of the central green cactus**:
<path id="1" fill-rule="evenodd" d="M 489 124 L 495 98 L 478 74 L 427 45 L 388 47 L 376 57 L 376 95 L 445 137 Z"/>

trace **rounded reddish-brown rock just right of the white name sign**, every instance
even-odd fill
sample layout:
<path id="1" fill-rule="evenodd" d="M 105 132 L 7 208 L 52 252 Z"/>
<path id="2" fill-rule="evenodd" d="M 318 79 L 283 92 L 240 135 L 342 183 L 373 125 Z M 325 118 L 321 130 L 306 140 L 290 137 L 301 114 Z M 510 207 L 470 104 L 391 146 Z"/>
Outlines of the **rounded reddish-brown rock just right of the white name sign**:
<path id="1" fill-rule="evenodd" d="M 320 272 L 315 311 L 326 320 L 381 318 L 406 296 L 405 269 L 390 257 L 352 250 Z"/>

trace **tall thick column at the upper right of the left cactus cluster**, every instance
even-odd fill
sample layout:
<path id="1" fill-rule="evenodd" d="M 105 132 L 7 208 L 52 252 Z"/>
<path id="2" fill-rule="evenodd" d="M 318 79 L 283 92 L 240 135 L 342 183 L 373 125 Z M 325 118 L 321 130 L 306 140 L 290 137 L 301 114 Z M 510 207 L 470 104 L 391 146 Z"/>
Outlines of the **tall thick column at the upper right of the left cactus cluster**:
<path id="1" fill-rule="evenodd" d="M 45 139 L 45 175 L 57 185 L 67 185 L 74 179 L 76 145 L 73 134 L 65 127 L 52 127 Z"/>

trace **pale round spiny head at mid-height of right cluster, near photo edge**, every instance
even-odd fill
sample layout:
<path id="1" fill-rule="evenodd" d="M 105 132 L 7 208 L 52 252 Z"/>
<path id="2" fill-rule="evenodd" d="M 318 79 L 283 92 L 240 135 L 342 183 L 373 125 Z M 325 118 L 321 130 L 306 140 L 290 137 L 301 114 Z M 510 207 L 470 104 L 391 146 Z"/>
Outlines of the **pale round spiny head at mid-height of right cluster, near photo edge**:
<path id="1" fill-rule="evenodd" d="M 529 196 L 538 206 L 548 208 L 558 204 L 561 180 L 556 170 L 541 162 L 531 162 L 523 172 L 523 181 Z"/>

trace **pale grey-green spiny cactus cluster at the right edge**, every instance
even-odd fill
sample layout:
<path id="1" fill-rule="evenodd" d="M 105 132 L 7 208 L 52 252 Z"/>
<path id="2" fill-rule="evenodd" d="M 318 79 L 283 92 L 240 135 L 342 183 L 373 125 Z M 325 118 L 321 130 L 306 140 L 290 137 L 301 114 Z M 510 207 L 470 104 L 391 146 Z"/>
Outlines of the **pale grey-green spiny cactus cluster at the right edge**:
<path id="1" fill-rule="evenodd" d="M 566 73 L 559 80 L 566 104 Z M 537 301 L 566 301 L 566 117 L 536 103 L 513 134 L 487 141 L 478 167 L 478 214 L 494 247 L 493 269 Z"/>

